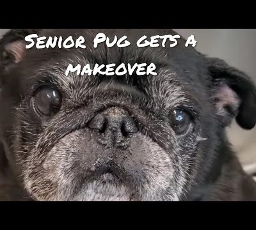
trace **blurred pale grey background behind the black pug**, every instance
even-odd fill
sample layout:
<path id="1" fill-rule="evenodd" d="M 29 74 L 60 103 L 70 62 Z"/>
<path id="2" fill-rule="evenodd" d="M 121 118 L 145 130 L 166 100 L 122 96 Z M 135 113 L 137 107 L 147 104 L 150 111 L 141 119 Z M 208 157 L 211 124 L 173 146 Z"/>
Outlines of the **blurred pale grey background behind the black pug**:
<path id="1" fill-rule="evenodd" d="M 174 30 L 186 39 L 193 34 L 199 52 L 224 59 L 229 65 L 250 75 L 256 82 L 256 29 Z M 0 37 L 6 31 L 8 29 L 0 29 Z M 256 180 L 256 128 L 243 130 L 234 121 L 227 128 L 227 134 L 245 171 L 254 175 Z"/>

